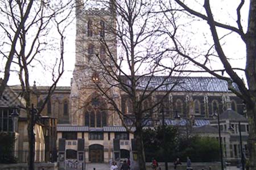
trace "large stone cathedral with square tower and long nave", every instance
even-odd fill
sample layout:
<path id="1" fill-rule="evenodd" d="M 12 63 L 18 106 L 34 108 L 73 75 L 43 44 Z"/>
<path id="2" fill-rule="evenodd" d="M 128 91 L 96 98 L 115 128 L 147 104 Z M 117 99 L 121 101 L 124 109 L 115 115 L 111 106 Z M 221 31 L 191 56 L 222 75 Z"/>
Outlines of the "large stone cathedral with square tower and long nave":
<path id="1" fill-rule="evenodd" d="M 101 62 L 106 62 L 106 65 L 108 63 L 104 61 L 106 49 L 100 39 L 104 38 L 110 47 L 108 50 L 117 59 L 116 37 L 108 31 L 110 25 L 115 27 L 116 14 L 111 7 L 89 8 L 82 6 L 80 0 L 76 3 L 76 62 L 71 86 L 56 87 L 42 113 L 44 117 L 52 118 L 49 119 L 51 121 L 45 118 L 51 127 L 44 135 L 45 140 L 51 139 L 48 144 L 46 142 L 46 149 L 51 151 L 48 156 L 50 158 L 53 154 L 57 155 L 56 161 L 59 162 L 60 169 L 84 169 L 86 163 L 109 163 L 128 158 L 133 163 L 137 160 L 134 134 L 127 132 L 124 126 L 124 122 L 127 126 L 134 126 L 131 119 L 127 118 L 133 116 L 131 100 L 119 88 L 110 87 L 111 83 L 102 81 L 99 74 L 101 63 L 98 58 L 101 58 Z M 157 84 L 163 77 L 155 76 L 152 79 Z M 125 76 L 123 80 L 127 81 Z M 142 81 L 147 82 L 147 78 Z M 163 100 L 162 112 L 152 114 L 145 121 L 145 127 L 160 125 L 163 114 L 166 125 L 177 125 L 176 118 L 179 117 L 180 126 L 191 122 L 191 126 L 197 128 L 196 133 L 217 137 L 216 129 L 209 131 L 210 128 L 205 130 L 205 127 L 217 126 L 214 113 L 218 112 L 222 114 L 220 118 L 224 133 L 222 140 L 225 141 L 224 157 L 238 159 L 241 153 L 237 139 L 238 120 L 244 126 L 243 136 L 248 134 L 246 118 L 241 116 L 245 116 L 242 100 L 228 90 L 228 83 L 224 80 L 213 77 L 179 77 L 179 81 L 183 83 L 174 87 Z M 97 82 L 100 82 L 101 89 L 108 90 L 108 96 L 115 100 L 119 110 L 128 115 L 123 121 L 108 99 L 100 95 Z M 157 95 L 152 96 L 152 100 L 164 96 L 167 88 L 160 89 Z M 11 89 L 20 91 L 19 86 Z M 38 92 L 33 100 L 40 106 L 47 95 L 48 87 L 34 84 L 32 89 Z M 145 107 L 150 104 L 150 101 L 144 103 Z M 225 113 L 226 111 L 228 112 Z M 2 120 L 3 117 L 4 114 L 0 113 Z M 232 134 L 227 132 L 229 125 L 236 128 Z M 3 123 L 0 124 L 0 131 L 3 131 L 4 126 Z M 244 145 L 246 147 L 246 142 Z"/>

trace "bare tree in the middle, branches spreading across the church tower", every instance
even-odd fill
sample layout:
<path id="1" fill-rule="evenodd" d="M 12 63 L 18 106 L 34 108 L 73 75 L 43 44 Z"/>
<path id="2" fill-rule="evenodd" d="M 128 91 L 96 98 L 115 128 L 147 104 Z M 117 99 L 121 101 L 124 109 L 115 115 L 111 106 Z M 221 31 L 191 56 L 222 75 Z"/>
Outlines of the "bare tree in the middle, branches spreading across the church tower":
<path id="1" fill-rule="evenodd" d="M 142 128 L 149 119 L 157 118 L 160 104 L 168 99 L 171 90 L 179 83 L 178 78 L 171 78 L 174 76 L 173 71 L 166 71 L 157 63 L 163 63 L 168 56 L 172 56 L 170 67 L 179 70 L 184 67 L 185 61 L 164 50 L 168 44 L 164 34 L 159 31 L 163 15 L 151 12 L 159 6 L 159 1 L 110 2 L 111 12 L 102 16 L 101 12 L 94 11 L 94 18 L 88 16 L 89 19 L 86 18 L 84 22 L 88 24 L 87 29 L 84 29 L 85 36 L 80 36 L 77 43 L 92 43 L 94 40 L 94 49 L 102 46 L 104 49 L 94 50 L 90 45 L 77 48 L 77 52 L 85 54 L 84 61 L 81 61 L 81 65 L 84 65 L 81 68 L 85 71 L 79 73 L 86 73 L 87 77 L 88 73 L 92 73 L 92 78 L 89 76 L 88 80 L 81 82 L 93 80 L 93 86 L 111 105 L 110 109 L 117 112 L 122 125 L 134 133 L 139 169 L 146 169 Z M 92 15 L 93 11 L 88 9 L 88 13 Z M 104 21 L 105 26 L 93 24 L 100 21 Z M 129 98 L 131 114 L 122 111 L 120 94 Z M 132 123 L 127 125 L 126 119 Z M 131 126 L 136 128 L 134 132 Z"/>

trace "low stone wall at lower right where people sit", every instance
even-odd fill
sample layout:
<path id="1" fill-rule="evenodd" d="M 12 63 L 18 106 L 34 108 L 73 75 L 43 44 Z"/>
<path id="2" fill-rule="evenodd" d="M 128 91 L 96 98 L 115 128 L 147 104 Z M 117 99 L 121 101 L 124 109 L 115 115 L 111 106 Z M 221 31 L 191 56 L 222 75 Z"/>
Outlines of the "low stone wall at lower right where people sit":
<path id="1" fill-rule="evenodd" d="M 192 163 L 193 170 L 201 170 L 204 168 L 204 170 L 209 170 L 209 167 L 211 170 L 220 170 L 221 169 L 221 163 L 220 162 L 213 162 L 213 163 Z M 151 170 L 151 163 L 146 163 L 147 170 Z M 165 169 L 164 163 L 159 163 L 159 168 L 162 170 Z M 168 169 L 174 169 L 174 163 L 168 163 Z M 182 163 L 181 165 L 177 165 L 177 170 L 186 170 L 187 169 L 187 163 Z"/>

